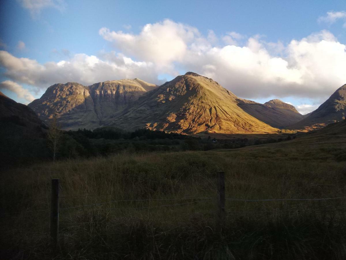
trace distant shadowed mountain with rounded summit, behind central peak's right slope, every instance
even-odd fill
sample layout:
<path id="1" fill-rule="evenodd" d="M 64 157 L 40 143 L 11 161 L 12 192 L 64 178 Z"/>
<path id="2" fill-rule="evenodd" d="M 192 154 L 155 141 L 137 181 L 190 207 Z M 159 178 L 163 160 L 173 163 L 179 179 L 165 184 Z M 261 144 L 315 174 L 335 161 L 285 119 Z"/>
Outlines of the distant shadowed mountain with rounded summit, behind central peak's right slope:
<path id="1" fill-rule="evenodd" d="M 294 106 L 280 99 L 273 99 L 264 104 L 241 98 L 237 101 L 238 106 L 246 113 L 275 128 L 282 129 L 303 119 L 303 115 Z"/>

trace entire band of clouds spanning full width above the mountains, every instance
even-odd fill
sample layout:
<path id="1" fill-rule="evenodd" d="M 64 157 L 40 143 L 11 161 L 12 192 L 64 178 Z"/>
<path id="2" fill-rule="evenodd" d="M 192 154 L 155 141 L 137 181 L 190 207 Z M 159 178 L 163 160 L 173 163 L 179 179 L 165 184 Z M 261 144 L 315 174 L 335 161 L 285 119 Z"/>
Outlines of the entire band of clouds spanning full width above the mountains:
<path id="1" fill-rule="evenodd" d="M 3 76 L 45 88 L 67 81 L 88 85 L 135 77 L 160 84 L 158 75 L 195 71 L 244 98 L 290 96 L 318 101 L 346 83 L 346 46 L 328 31 L 286 45 L 235 32 L 227 35 L 243 44 L 219 45 L 213 31 L 203 36 L 197 28 L 172 20 L 147 24 L 138 34 L 109 28 L 101 28 L 99 34 L 116 50 L 98 57 L 75 54 L 45 64 L 0 51 Z"/>

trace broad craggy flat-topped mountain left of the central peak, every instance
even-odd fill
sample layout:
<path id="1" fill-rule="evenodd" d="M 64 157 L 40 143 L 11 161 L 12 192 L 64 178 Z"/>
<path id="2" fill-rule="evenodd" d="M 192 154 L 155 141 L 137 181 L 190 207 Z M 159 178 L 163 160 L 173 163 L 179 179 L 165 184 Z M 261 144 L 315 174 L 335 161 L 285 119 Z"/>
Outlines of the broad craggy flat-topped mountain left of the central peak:
<path id="1" fill-rule="evenodd" d="M 97 128 L 156 85 L 140 79 L 112 80 L 83 86 L 69 82 L 50 86 L 28 104 L 48 122 L 56 116 L 62 129 Z"/>

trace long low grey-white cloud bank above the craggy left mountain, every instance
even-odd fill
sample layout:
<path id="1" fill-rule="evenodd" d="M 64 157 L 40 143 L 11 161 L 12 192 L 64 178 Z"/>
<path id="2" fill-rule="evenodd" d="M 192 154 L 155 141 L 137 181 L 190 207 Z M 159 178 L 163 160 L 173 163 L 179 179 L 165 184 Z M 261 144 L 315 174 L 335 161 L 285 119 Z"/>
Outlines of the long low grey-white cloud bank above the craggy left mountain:
<path id="1" fill-rule="evenodd" d="M 18 83 L 38 88 L 47 88 L 55 83 L 76 81 L 90 85 L 100 81 L 141 78 L 157 81 L 157 73 L 150 62 L 136 62 L 114 52 L 93 55 L 75 54 L 71 59 L 40 64 L 36 60 L 17 58 L 6 51 L 0 51 L 0 67 L 6 71 L 3 76 Z"/>

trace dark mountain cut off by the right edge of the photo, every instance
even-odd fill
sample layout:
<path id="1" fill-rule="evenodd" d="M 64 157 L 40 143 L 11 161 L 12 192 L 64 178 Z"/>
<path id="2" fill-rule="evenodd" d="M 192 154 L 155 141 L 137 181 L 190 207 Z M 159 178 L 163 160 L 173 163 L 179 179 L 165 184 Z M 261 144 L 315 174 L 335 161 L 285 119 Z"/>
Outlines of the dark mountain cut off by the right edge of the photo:
<path id="1" fill-rule="evenodd" d="M 346 84 L 338 88 L 318 109 L 289 127 L 297 130 L 318 129 L 330 123 L 343 121 L 345 116 Z"/>

